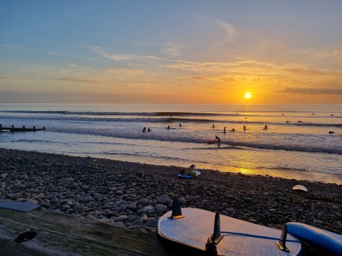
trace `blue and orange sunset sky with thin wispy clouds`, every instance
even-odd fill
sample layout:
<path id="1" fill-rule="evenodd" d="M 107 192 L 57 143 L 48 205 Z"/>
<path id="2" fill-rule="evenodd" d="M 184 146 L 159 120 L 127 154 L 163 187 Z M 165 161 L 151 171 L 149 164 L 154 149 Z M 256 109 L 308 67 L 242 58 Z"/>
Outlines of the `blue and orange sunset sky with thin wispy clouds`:
<path id="1" fill-rule="evenodd" d="M 342 1 L 0 0 L 8 102 L 342 103 Z"/>

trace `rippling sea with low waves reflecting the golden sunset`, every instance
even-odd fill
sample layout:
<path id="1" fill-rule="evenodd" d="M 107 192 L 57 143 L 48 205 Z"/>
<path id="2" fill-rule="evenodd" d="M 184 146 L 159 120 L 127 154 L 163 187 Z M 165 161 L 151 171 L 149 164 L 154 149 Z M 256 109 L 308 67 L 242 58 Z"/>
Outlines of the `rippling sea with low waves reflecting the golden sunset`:
<path id="1" fill-rule="evenodd" d="M 342 184 L 342 104 L 0 103 L 0 124 L 45 128 L 5 149 Z"/>

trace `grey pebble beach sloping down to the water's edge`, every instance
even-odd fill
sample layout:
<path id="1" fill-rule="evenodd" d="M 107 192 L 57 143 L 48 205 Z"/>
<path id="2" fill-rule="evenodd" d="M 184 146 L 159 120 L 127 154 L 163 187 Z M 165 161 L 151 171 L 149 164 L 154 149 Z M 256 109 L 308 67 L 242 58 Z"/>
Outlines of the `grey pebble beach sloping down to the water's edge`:
<path id="1" fill-rule="evenodd" d="M 0 149 L 0 198 L 151 235 L 175 197 L 182 208 L 267 227 L 296 221 L 342 234 L 341 185 L 201 169 L 194 179 L 177 176 L 187 170 Z M 298 184 L 308 192 L 292 190 Z"/>

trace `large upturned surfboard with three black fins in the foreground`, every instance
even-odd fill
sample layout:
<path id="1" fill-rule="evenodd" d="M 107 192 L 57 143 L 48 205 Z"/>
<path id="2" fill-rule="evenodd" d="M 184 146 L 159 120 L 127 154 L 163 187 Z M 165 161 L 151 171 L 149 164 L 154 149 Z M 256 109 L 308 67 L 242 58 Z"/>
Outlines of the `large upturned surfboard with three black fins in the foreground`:
<path id="1" fill-rule="evenodd" d="M 172 254 L 292 256 L 302 253 L 300 241 L 291 234 L 285 238 L 286 247 L 281 246 L 280 229 L 197 208 L 179 206 L 174 210 L 174 204 L 172 212 L 161 216 L 157 223 L 157 238 Z"/>

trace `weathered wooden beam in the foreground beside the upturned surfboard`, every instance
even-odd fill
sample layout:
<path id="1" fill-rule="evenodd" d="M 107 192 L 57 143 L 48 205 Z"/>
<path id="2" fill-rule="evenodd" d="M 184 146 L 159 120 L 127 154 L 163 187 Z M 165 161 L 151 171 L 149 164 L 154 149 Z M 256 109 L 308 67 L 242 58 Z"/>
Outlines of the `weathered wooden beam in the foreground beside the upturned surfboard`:
<path id="1" fill-rule="evenodd" d="M 24 234 L 26 239 L 18 239 Z M 5 209 L 0 209 L 0 255 L 170 256 L 156 236 L 141 231 L 49 210 Z"/>

